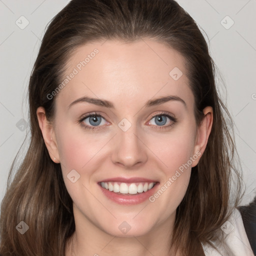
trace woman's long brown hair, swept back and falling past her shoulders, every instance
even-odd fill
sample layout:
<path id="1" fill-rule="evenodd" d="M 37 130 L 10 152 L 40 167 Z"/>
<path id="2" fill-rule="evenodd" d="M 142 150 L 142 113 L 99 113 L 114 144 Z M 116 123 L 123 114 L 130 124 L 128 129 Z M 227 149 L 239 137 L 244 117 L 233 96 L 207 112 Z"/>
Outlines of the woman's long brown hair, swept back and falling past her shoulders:
<path id="1" fill-rule="evenodd" d="M 55 100 L 47 95 L 59 85 L 71 52 L 92 40 L 132 42 L 146 37 L 176 49 L 187 60 L 197 125 L 202 109 L 213 108 L 208 143 L 177 207 L 170 247 L 198 256 L 204 255 L 201 243 L 221 242 L 220 226 L 239 203 L 241 181 L 233 164 L 231 117 L 217 93 L 215 65 L 196 23 L 174 0 L 71 0 L 50 21 L 31 72 L 30 145 L 11 180 L 13 161 L 1 203 L 2 256 L 63 256 L 75 230 L 60 164 L 50 159 L 36 117 L 37 107 L 43 106 L 47 119 L 54 118 Z M 15 228 L 20 221 L 29 227 L 24 234 Z"/>

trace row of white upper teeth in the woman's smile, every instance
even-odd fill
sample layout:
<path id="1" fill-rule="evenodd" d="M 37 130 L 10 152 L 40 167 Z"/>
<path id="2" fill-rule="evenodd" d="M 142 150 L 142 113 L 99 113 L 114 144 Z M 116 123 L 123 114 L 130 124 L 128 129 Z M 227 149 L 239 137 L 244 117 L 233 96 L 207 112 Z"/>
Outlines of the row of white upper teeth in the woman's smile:
<path id="1" fill-rule="evenodd" d="M 143 184 L 144 183 L 144 184 Z M 108 189 L 109 191 L 113 191 L 115 193 L 122 193 L 122 194 L 136 194 L 142 193 L 143 191 L 146 192 L 147 190 L 151 189 L 154 186 L 155 182 L 140 182 L 140 183 L 123 183 L 123 182 L 100 182 L 100 185 Z"/>

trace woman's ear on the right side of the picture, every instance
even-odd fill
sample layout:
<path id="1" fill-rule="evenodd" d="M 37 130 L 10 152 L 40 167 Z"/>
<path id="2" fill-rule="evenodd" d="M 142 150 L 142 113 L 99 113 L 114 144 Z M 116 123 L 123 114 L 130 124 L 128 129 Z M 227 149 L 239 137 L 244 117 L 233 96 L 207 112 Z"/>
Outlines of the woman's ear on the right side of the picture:
<path id="1" fill-rule="evenodd" d="M 198 163 L 201 155 L 205 150 L 213 122 L 212 107 L 206 106 L 202 111 L 204 116 L 197 127 L 197 136 L 194 145 L 194 155 L 196 154 L 198 157 L 193 161 L 191 167 L 194 167 Z"/>

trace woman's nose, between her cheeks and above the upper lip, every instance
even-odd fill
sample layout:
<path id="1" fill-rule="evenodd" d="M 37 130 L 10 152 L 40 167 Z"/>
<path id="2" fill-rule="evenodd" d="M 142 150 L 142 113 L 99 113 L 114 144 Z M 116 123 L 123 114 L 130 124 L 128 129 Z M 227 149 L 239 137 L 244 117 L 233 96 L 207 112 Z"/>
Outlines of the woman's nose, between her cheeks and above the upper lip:
<path id="1" fill-rule="evenodd" d="M 135 126 L 131 125 L 126 131 L 118 128 L 113 141 L 112 162 L 114 164 L 132 168 L 146 162 L 146 145 L 143 143 L 143 136 L 137 134 Z"/>

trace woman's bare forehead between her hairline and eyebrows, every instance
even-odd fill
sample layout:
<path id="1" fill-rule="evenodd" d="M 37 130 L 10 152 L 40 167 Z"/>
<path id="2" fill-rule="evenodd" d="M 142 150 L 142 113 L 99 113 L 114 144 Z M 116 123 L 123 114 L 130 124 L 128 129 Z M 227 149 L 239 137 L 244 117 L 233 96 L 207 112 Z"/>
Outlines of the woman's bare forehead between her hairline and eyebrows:
<path id="1" fill-rule="evenodd" d="M 64 107 L 88 95 L 115 105 L 137 105 L 138 101 L 171 94 L 193 104 L 184 64 L 179 52 L 151 39 L 86 43 L 76 48 L 66 62 L 60 81 L 66 82 L 57 101 Z"/>

